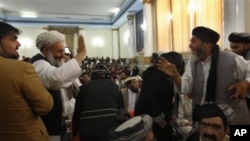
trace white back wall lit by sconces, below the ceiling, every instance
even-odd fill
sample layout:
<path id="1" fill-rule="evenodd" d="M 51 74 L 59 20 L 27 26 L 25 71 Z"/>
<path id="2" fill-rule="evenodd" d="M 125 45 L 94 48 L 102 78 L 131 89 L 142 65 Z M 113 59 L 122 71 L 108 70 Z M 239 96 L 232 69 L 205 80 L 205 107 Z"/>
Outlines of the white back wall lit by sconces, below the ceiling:
<path id="1" fill-rule="evenodd" d="M 46 26 L 34 26 L 34 27 L 21 27 L 16 26 L 18 29 L 21 30 L 21 34 L 18 37 L 18 40 L 21 43 L 21 47 L 19 48 L 18 52 L 20 54 L 20 58 L 22 56 L 25 57 L 32 57 L 35 54 L 39 53 L 40 51 L 36 48 L 35 40 L 37 35 L 46 31 L 43 27 Z M 103 56 L 103 57 L 113 57 L 112 54 L 112 31 L 111 29 L 84 29 L 82 31 L 85 37 L 85 43 L 87 46 L 87 56 L 89 57 L 96 57 L 96 56 Z M 74 40 L 74 50 L 76 51 L 77 48 L 77 36 L 75 36 Z M 94 43 L 94 40 L 97 39 L 102 43 L 98 45 Z"/>

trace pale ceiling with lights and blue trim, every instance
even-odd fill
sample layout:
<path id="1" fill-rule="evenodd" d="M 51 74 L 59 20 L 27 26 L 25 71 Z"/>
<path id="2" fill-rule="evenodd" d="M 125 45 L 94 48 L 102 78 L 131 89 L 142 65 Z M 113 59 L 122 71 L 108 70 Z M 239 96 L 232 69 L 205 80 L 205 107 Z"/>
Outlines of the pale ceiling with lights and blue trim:
<path id="1" fill-rule="evenodd" d="M 118 13 L 114 9 L 119 8 Z M 119 26 L 141 0 L 0 0 L 0 19 L 15 24 Z M 34 13 L 37 18 L 21 17 Z"/>

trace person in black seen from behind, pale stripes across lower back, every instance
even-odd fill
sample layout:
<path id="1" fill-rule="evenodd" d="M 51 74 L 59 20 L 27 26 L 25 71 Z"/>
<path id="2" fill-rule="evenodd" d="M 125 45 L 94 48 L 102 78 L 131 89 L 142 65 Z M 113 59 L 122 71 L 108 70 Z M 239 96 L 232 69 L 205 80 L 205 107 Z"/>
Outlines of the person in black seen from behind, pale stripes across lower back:
<path id="1" fill-rule="evenodd" d="M 119 87 L 111 80 L 108 65 L 98 63 L 91 81 L 80 87 L 73 114 L 73 137 L 81 141 L 109 141 L 108 131 L 117 125 L 119 109 L 123 109 Z"/>

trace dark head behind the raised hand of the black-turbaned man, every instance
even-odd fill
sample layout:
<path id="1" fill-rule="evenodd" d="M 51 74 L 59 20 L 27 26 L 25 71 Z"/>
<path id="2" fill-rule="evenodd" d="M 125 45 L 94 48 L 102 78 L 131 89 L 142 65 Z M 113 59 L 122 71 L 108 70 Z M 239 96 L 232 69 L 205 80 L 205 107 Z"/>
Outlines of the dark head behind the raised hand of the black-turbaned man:
<path id="1" fill-rule="evenodd" d="M 170 63 L 174 64 L 181 75 L 184 73 L 185 62 L 184 62 L 184 59 L 180 53 L 171 51 L 168 53 L 163 53 L 160 56 L 164 57 Z"/>

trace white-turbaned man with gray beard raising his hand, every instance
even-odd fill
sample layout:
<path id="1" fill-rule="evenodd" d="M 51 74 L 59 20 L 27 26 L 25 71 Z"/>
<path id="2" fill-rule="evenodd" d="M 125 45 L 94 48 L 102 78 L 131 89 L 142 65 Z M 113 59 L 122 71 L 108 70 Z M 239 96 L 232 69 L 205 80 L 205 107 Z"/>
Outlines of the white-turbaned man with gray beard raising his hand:
<path id="1" fill-rule="evenodd" d="M 60 135 L 66 131 L 65 119 L 70 119 L 74 111 L 72 82 L 81 75 L 81 64 L 86 54 L 82 36 L 78 39 L 76 56 L 64 63 L 65 37 L 57 31 L 47 31 L 39 34 L 36 46 L 41 53 L 31 58 L 44 86 L 53 96 L 52 111 L 43 116 L 43 122 L 52 141 L 60 141 Z"/>

